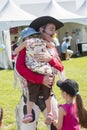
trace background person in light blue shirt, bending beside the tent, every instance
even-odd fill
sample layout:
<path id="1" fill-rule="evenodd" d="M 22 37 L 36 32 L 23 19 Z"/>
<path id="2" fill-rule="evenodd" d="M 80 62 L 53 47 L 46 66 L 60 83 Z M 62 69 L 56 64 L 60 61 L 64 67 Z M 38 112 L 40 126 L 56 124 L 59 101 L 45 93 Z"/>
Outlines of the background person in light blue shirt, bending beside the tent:
<path id="1" fill-rule="evenodd" d="M 71 49 L 68 49 L 69 46 L 69 39 L 66 39 L 61 44 L 61 55 L 64 60 L 70 60 L 71 56 L 73 55 L 73 51 Z"/>

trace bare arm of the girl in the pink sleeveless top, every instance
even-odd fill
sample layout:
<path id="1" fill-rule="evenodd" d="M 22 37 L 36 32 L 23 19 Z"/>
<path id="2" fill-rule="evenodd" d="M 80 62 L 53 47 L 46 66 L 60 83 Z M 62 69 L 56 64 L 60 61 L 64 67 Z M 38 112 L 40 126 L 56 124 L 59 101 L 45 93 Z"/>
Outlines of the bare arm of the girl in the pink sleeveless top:
<path id="1" fill-rule="evenodd" d="M 58 130 L 61 130 L 63 126 L 63 118 L 66 115 L 66 112 L 62 107 L 59 107 L 58 111 L 59 111 L 58 120 L 54 120 L 53 124 L 54 126 L 56 126 Z"/>

